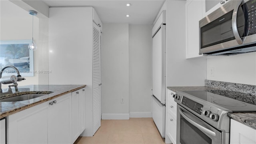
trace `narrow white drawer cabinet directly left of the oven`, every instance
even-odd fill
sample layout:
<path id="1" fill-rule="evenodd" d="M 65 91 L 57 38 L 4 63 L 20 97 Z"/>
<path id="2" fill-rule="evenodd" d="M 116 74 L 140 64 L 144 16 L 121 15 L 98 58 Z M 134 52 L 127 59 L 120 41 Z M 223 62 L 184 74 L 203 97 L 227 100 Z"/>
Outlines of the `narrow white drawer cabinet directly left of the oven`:
<path id="1" fill-rule="evenodd" d="M 168 90 L 166 103 L 166 137 L 168 137 L 173 144 L 176 144 L 177 103 L 174 101 L 174 94 L 176 93 L 172 90 Z"/>

